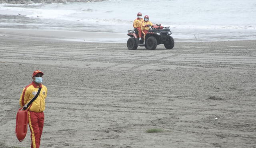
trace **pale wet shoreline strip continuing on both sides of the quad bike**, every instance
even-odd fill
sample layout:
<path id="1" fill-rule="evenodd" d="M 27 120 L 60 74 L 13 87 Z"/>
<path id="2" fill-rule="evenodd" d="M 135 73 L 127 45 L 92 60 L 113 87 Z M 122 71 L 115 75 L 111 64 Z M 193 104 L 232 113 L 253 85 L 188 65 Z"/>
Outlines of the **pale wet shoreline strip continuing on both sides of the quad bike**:
<path id="1" fill-rule="evenodd" d="M 95 42 L 95 43 L 126 43 L 129 36 L 126 33 L 116 32 L 82 32 L 68 30 L 43 30 L 43 29 L 16 29 L 16 28 L 0 28 L 0 36 L 26 36 L 26 38 L 34 37 L 36 40 L 56 40 L 56 41 L 75 41 L 75 42 Z M 33 39 L 33 40 L 35 40 Z M 175 38 L 175 43 L 180 42 L 216 42 L 216 41 L 251 41 L 256 39 L 182 39 Z"/>

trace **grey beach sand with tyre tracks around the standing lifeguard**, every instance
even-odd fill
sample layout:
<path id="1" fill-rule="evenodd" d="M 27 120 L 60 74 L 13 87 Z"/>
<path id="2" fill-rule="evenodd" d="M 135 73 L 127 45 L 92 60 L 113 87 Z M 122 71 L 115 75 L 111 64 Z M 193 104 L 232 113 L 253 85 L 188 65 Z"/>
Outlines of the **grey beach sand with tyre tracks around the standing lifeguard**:
<path id="1" fill-rule="evenodd" d="M 48 87 L 41 148 L 256 147 L 256 41 L 152 51 L 0 34 L 0 147 L 30 147 L 15 116 L 36 69 Z"/>

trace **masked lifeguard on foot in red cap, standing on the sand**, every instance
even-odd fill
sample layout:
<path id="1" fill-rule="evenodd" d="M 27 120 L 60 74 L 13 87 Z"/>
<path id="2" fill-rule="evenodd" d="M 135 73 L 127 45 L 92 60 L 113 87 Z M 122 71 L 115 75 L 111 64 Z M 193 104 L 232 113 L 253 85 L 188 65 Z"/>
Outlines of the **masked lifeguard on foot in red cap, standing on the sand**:
<path id="1" fill-rule="evenodd" d="M 38 92 L 40 92 L 36 100 L 27 108 L 28 111 L 28 124 L 31 132 L 31 148 L 39 148 L 41 135 L 44 127 L 44 109 L 45 99 L 47 96 L 47 88 L 42 85 L 42 71 L 34 71 L 32 74 L 32 83 L 26 86 L 20 96 L 20 106 L 26 105 Z"/>

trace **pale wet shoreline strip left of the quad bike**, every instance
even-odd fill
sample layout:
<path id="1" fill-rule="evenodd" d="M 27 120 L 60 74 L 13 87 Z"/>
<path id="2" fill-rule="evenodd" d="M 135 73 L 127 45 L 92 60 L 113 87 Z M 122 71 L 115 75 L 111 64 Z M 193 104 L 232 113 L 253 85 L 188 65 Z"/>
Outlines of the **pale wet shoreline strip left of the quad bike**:
<path id="1" fill-rule="evenodd" d="M 26 36 L 27 38 L 35 37 L 36 39 L 56 41 L 76 41 L 76 42 L 114 42 L 128 39 L 126 34 L 111 32 L 79 32 L 63 30 L 30 30 L 30 29 L 9 29 L 0 28 L 0 34 L 6 36 Z M 127 36 L 127 37 L 126 37 Z M 101 41 L 99 41 L 101 40 Z"/>

